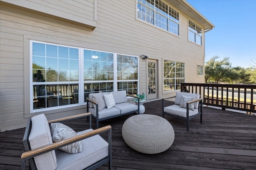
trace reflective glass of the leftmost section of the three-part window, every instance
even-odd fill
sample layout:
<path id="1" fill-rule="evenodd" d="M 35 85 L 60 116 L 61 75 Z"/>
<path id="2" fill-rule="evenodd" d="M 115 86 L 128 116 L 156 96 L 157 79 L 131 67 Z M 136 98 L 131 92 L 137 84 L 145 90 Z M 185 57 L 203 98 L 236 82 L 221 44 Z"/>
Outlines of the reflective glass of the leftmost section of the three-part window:
<path id="1" fill-rule="evenodd" d="M 33 109 L 74 104 L 78 67 L 78 49 L 32 42 Z"/>

